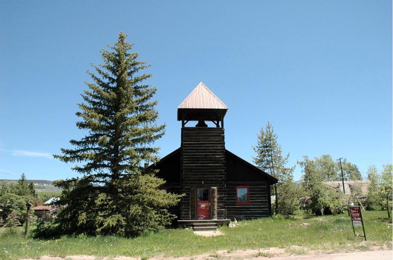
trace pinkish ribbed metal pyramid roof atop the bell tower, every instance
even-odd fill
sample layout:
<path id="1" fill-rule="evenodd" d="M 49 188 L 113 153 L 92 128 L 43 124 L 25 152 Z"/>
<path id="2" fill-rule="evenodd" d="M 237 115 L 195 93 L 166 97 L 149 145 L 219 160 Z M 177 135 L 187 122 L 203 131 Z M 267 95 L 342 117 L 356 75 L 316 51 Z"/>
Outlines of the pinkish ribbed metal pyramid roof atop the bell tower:
<path id="1" fill-rule="evenodd" d="M 177 109 L 225 109 L 228 107 L 203 82 L 184 99 Z"/>

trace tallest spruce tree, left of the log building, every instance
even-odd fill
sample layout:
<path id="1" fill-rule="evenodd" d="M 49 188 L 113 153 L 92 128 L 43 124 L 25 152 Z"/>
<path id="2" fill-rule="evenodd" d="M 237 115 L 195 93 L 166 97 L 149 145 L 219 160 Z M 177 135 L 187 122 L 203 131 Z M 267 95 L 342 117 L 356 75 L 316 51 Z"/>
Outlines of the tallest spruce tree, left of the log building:
<path id="1" fill-rule="evenodd" d="M 60 234 L 138 236 L 174 218 L 167 208 L 179 195 L 157 189 L 164 181 L 143 167 L 158 160 L 159 148 L 152 145 L 164 135 L 165 125 L 156 124 L 157 101 L 151 100 L 156 87 L 144 84 L 151 74 L 141 73 L 149 65 L 130 52 L 133 44 L 126 37 L 120 32 L 114 46 L 102 49 L 104 64 L 92 64 L 96 74 L 87 71 L 93 83 L 86 82 L 89 90 L 76 113 L 81 118 L 77 127 L 86 136 L 70 141 L 75 148 L 54 155 L 77 163 L 72 169 L 83 175 L 55 182 L 64 190 L 51 228 Z M 45 226 L 40 228 L 38 234 L 45 234 Z"/>

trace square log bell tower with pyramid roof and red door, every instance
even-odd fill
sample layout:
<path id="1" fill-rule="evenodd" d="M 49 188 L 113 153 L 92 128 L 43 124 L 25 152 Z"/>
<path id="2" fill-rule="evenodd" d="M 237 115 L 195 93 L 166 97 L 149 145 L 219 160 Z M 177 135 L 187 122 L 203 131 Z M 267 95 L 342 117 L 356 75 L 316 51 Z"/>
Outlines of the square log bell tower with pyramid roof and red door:
<path id="1" fill-rule="evenodd" d="M 177 107 L 177 120 L 182 122 L 180 188 L 186 194 L 180 203 L 181 220 L 226 218 L 227 110 L 202 82 Z M 214 127 L 208 127 L 206 121 L 213 122 Z"/>

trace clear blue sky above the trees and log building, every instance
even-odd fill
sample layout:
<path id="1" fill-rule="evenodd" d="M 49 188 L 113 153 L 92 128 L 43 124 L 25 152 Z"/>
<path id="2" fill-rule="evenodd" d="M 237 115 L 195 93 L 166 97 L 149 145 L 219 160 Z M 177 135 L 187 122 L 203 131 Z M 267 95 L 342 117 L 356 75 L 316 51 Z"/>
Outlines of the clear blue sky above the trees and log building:
<path id="1" fill-rule="evenodd" d="M 0 179 L 79 176 L 52 158 L 70 139 L 90 63 L 135 42 L 166 135 L 202 81 L 228 107 L 225 146 L 252 162 L 269 120 L 288 166 L 303 155 L 392 163 L 392 1 L 1 1 Z M 296 166 L 294 177 L 301 177 Z"/>

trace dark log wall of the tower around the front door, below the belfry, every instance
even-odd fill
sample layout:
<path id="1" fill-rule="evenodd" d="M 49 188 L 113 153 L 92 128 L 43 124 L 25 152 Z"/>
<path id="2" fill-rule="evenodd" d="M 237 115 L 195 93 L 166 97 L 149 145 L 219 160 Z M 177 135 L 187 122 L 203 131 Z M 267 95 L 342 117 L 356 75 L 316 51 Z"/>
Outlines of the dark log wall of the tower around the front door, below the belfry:
<path id="1" fill-rule="evenodd" d="M 217 218 L 225 219 L 225 138 L 219 127 L 181 129 L 180 219 L 196 219 L 195 188 L 217 187 Z M 193 195 L 194 194 L 194 195 Z"/>

